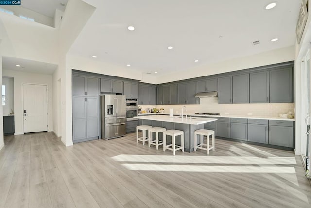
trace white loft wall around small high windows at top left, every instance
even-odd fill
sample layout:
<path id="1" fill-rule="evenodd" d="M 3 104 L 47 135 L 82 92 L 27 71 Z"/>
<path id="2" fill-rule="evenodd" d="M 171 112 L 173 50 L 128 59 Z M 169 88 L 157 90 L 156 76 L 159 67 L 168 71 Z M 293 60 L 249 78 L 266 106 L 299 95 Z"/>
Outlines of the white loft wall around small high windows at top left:
<path id="1" fill-rule="evenodd" d="M 23 15 L 23 16 L 35 19 L 35 22 L 53 27 L 53 18 L 42 15 L 30 9 L 24 8 L 22 6 L 0 6 L 0 7 L 13 11 L 14 15 L 18 17 L 19 15 Z M 26 19 L 24 20 L 27 21 Z"/>

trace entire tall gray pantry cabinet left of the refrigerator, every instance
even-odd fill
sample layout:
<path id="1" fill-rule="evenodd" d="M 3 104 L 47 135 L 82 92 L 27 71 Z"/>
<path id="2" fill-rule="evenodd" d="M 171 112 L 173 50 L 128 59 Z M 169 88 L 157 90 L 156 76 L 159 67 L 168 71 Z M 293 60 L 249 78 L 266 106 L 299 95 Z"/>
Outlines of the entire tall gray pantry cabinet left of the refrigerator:
<path id="1" fill-rule="evenodd" d="M 99 138 L 99 109 L 99 78 L 72 75 L 72 133 L 74 143 Z"/>

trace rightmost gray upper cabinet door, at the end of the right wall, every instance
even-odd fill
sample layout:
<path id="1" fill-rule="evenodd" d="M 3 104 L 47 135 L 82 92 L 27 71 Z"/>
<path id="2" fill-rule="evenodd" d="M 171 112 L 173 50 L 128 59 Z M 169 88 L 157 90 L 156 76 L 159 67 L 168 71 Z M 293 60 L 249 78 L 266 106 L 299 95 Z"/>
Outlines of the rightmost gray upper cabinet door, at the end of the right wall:
<path id="1" fill-rule="evenodd" d="M 292 67 L 269 71 L 270 103 L 293 102 Z"/>

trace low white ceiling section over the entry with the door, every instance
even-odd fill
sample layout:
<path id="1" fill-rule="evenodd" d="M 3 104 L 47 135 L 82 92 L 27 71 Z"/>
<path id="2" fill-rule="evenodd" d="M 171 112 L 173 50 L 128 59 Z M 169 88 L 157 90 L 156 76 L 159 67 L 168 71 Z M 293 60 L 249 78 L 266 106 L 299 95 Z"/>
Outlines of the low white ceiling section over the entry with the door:
<path id="1" fill-rule="evenodd" d="M 15 65 L 20 65 L 17 67 Z M 20 72 L 31 72 L 39 74 L 52 75 L 57 69 L 57 65 L 50 63 L 43 63 L 38 61 L 26 60 L 15 57 L 2 57 L 2 68 L 7 70 L 16 70 Z"/>

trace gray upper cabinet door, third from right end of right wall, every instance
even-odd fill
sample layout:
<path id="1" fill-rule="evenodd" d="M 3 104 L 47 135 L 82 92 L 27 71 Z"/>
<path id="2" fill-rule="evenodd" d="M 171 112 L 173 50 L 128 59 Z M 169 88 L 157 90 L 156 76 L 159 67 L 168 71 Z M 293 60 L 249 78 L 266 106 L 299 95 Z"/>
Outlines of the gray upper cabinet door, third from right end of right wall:
<path id="1" fill-rule="evenodd" d="M 232 103 L 249 103 L 249 74 L 232 76 Z"/>

